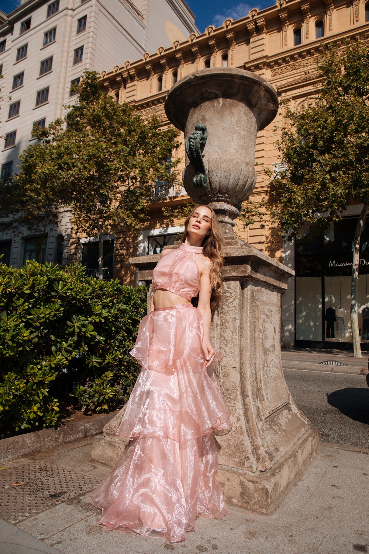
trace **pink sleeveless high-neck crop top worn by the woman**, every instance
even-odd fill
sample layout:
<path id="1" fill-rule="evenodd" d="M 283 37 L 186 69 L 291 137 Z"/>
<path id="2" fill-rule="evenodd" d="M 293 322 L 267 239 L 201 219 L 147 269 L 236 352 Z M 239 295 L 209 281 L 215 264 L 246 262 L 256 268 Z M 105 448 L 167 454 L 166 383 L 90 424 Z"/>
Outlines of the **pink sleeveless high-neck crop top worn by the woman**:
<path id="1" fill-rule="evenodd" d="M 200 290 L 200 272 L 196 254 L 202 253 L 201 246 L 182 243 L 160 258 L 153 271 L 154 291 L 169 290 L 170 293 L 190 300 Z"/>

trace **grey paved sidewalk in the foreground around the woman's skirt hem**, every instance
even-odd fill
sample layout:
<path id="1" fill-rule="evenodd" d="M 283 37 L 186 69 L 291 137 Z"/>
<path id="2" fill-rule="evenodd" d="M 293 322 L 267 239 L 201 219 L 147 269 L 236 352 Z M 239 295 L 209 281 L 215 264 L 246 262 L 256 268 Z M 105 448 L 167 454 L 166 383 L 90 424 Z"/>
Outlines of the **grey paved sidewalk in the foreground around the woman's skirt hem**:
<path id="1" fill-rule="evenodd" d="M 17 509 L 11 514 L 9 503 L 0 500 L 2 517 L 14 524 L 0 525 L 0 554 L 369 552 L 369 450 L 320 445 L 303 478 L 273 515 L 228 506 L 228 516 L 199 517 L 186 541 L 171 545 L 163 538 L 107 531 L 97 524 L 100 512 L 91 504 L 86 487 L 96 486 L 110 469 L 91 463 L 91 444 L 85 439 L 4 464 L 0 494 L 6 496 L 12 487 L 12 498 L 18 495 L 18 502 L 13 501 Z"/>

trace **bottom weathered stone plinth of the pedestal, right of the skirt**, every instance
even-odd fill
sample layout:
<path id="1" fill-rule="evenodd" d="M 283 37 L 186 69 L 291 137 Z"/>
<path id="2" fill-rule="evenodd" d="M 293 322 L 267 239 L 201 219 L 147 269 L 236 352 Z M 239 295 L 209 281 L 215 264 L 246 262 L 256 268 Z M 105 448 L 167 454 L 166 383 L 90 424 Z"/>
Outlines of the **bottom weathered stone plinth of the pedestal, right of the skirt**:
<path id="1" fill-rule="evenodd" d="M 269 515 L 317 452 L 318 431 L 310 428 L 268 471 L 252 473 L 220 465 L 216 476 L 229 504 Z"/>

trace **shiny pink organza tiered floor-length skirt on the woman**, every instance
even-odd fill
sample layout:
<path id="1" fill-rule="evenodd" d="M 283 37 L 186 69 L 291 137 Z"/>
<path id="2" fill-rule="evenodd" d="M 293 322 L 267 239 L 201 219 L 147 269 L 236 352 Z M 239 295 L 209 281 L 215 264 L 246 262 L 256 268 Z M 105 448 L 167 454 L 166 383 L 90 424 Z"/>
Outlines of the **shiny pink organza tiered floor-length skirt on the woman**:
<path id="1" fill-rule="evenodd" d="M 201 338 L 191 304 L 141 321 L 131 354 L 142 371 L 117 431 L 132 440 L 92 496 L 108 529 L 178 542 L 197 515 L 227 514 L 212 433 L 231 428 L 230 412 L 212 366 L 204 368 Z"/>

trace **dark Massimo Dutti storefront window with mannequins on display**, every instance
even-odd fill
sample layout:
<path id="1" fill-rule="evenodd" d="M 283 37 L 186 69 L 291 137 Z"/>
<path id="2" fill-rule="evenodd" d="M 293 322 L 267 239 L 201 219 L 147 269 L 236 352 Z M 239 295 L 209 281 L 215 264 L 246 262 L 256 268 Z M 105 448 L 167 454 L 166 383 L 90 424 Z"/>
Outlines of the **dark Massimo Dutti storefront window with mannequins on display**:
<path id="1" fill-rule="evenodd" d="M 323 235 L 295 243 L 296 346 L 352 348 L 352 249 L 357 218 L 344 218 Z M 369 350 L 369 222 L 360 243 L 358 314 L 363 350 Z"/>

